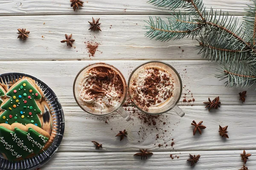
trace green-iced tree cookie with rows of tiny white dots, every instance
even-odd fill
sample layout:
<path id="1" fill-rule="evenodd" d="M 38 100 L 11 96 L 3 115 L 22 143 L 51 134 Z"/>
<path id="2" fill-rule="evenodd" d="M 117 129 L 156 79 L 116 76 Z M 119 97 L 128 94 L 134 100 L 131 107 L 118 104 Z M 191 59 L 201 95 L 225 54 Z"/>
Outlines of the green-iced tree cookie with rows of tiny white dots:
<path id="1" fill-rule="evenodd" d="M 29 158 L 42 152 L 49 133 L 33 124 L 0 124 L 0 153 L 9 161 Z"/>

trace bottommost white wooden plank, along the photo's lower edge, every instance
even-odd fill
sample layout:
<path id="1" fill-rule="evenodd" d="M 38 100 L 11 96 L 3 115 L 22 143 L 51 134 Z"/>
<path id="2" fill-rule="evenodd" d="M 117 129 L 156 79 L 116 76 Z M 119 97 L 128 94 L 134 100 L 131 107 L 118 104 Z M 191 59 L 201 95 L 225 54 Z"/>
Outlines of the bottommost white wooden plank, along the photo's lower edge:
<path id="1" fill-rule="evenodd" d="M 148 159 L 133 156 L 136 152 L 58 152 L 42 170 L 238 170 L 243 166 L 242 150 L 195 151 L 195 152 L 154 152 Z M 189 153 L 200 154 L 195 167 L 190 167 Z M 246 163 L 249 170 L 256 169 L 255 150 L 247 150 L 252 156 Z M 179 156 L 171 159 L 170 154 Z"/>

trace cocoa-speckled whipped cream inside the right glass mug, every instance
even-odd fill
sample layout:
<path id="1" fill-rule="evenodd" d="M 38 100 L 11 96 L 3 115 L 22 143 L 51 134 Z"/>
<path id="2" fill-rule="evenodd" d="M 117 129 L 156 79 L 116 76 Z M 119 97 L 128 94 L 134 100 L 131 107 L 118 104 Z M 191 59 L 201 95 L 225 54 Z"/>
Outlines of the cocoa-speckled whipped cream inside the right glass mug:
<path id="1" fill-rule="evenodd" d="M 173 90 L 172 75 L 158 67 L 141 69 L 131 80 L 131 92 L 135 103 L 149 109 L 167 104 Z"/>

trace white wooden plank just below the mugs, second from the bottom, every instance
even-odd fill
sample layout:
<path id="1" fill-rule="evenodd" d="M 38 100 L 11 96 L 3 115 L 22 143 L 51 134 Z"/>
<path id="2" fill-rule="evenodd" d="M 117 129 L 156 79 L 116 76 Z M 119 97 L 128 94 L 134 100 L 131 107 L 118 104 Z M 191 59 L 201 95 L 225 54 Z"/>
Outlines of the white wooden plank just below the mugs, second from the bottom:
<path id="1" fill-rule="evenodd" d="M 118 113 L 96 117 L 85 113 L 79 107 L 64 107 L 66 128 L 59 151 L 135 152 L 139 148 L 152 151 L 255 149 L 255 108 L 255 105 L 222 105 L 218 110 L 209 112 L 204 106 L 181 106 L 186 113 L 183 118 L 170 111 L 170 114 L 165 113 L 158 118 L 146 117 L 151 122 L 148 125 L 148 122 L 144 122 L 146 115 L 132 107 L 126 108 L 130 110 L 128 113 L 133 119 L 130 122 L 126 122 Z M 151 119 L 154 119 L 155 125 Z M 197 123 L 204 121 L 203 125 L 207 128 L 202 130 L 202 135 L 197 132 L 193 136 L 193 120 Z M 219 136 L 219 125 L 228 126 L 229 139 Z M 120 138 L 115 136 L 119 130 L 124 129 L 128 136 L 120 142 Z M 103 144 L 103 149 L 95 150 L 91 141 Z M 175 143 L 173 146 L 172 142 Z"/>

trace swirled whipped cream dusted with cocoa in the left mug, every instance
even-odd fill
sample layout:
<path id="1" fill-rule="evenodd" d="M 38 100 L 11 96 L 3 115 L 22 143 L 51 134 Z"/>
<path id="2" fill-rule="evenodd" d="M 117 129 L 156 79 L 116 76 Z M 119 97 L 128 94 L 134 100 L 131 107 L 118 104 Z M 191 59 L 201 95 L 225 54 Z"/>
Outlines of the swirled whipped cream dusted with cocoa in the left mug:
<path id="1" fill-rule="evenodd" d="M 95 67 L 87 71 L 79 89 L 79 99 L 94 111 L 108 111 L 122 102 L 122 79 L 108 67 Z"/>

